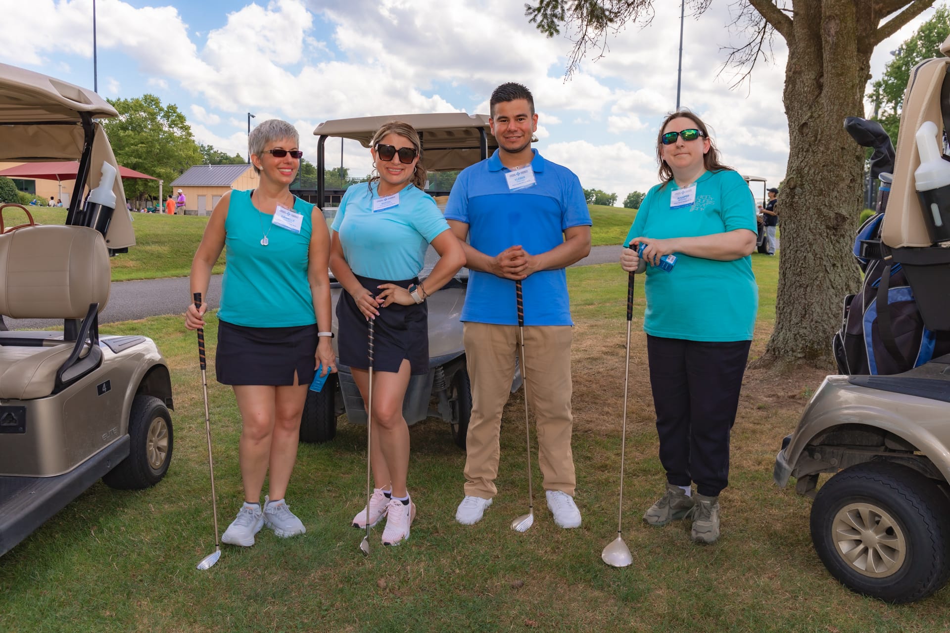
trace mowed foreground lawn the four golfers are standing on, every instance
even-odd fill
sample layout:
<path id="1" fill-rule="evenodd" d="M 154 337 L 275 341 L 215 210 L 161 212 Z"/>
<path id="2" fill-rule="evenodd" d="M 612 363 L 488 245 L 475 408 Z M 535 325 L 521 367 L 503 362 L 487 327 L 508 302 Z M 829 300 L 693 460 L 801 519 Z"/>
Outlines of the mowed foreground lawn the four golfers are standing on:
<path id="1" fill-rule="evenodd" d="M 753 256 L 763 295 L 753 356 L 771 330 L 773 303 L 766 298 L 775 293 L 777 259 Z M 362 532 L 350 521 L 365 499 L 366 436 L 341 419 L 333 441 L 299 450 L 288 500 L 307 533 L 284 540 L 265 528 L 254 548 L 225 546 L 217 566 L 197 571 L 214 543 L 195 335 L 173 317 L 104 326 L 161 345 L 175 389 L 171 470 L 141 492 L 96 484 L 0 558 L 0 630 L 950 630 L 947 589 L 893 606 L 840 586 L 811 546 L 811 502 L 771 481 L 781 439 L 822 372 L 747 373 L 717 544 L 691 543 L 688 523 L 654 529 L 641 522 L 664 482 L 640 329 L 642 289 L 633 324 L 622 512 L 634 564 L 605 566 L 600 551 L 617 534 L 626 276 L 604 265 L 568 270 L 568 280 L 577 322 L 573 450 L 580 529 L 554 526 L 539 493 L 537 458 L 534 527 L 524 533 L 509 527 L 527 505 L 518 393 L 504 410 L 499 493 L 481 523 L 453 520 L 465 454 L 444 423 L 429 419 L 411 428 L 409 489 L 419 508 L 411 539 L 383 548 L 380 525 L 364 558 L 357 549 Z M 213 320 L 207 337 L 215 341 Z M 213 358 L 213 344 L 209 352 Z M 213 363 L 209 370 L 213 376 Z M 223 530 L 241 500 L 240 423 L 230 389 L 213 380 L 209 388 Z"/>

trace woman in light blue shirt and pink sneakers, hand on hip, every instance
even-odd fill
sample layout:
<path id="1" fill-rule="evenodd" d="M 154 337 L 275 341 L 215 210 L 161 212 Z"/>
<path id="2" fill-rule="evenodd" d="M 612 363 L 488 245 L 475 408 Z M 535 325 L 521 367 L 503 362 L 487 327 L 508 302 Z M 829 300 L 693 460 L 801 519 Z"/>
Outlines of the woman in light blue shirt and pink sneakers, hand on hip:
<path id="1" fill-rule="evenodd" d="M 374 323 L 371 466 L 375 490 L 369 509 L 353 517 L 366 528 L 386 516 L 383 545 L 409 539 L 415 504 L 409 499 L 409 427 L 403 399 L 409 376 L 428 373 L 428 295 L 466 263 L 462 244 L 449 230 L 435 200 L 423 192 L 419 134 L 391 121 L 373 135 L 377 177 L 352 185 L 332 227 L 330 268 L 346 292 L 336 304 L 340 363 L 352 369 L 363 401 L 369 394 L 368 320 Z M 428 244 L 440 255 L 419 281 Z M 379 441 L 376 441 L 376 439 Z"/>

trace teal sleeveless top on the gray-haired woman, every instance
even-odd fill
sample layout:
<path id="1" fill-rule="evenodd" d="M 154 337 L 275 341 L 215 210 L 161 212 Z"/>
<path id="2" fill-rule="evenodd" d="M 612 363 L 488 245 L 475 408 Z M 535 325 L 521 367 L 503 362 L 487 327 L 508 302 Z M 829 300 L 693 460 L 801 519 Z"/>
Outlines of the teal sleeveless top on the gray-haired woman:
<path id="1" fill-rule="evenodd" d="M 294 198 L 300 233 L 271 224 L 250 191 L 232 191 L 224 221 L 226 263 L 218 319 L 236 326 L 291 327 L 316 323 L 307 279 L 314 205 Z M 261 238 L 267 236 L 267 246 Z"/>

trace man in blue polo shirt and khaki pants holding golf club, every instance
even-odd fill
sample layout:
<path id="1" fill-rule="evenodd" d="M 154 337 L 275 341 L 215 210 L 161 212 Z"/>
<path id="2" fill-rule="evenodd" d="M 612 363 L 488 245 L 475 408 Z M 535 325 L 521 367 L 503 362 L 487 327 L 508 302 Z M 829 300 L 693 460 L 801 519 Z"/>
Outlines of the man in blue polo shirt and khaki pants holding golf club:
<path id="1" fill-rule="evenodd" d="M 459 175 L 446 208 L 471 270 L 462 321 L 472 413 L 466 495 L 455 518 L 465 525 L 478 522 L 497 492 L 502 409 L 518 354 L 515 282 L 521 281 L 525 373 L 547 506 L 561 528 L 577 528 L 571 455 L 573 324 L 564 267 L 590 252 L 591 217 L 578 177 L 531 149 L 538 129 L 531 92 L 522 84 L 502 84 L 489 103 L 498 150 Z"/>

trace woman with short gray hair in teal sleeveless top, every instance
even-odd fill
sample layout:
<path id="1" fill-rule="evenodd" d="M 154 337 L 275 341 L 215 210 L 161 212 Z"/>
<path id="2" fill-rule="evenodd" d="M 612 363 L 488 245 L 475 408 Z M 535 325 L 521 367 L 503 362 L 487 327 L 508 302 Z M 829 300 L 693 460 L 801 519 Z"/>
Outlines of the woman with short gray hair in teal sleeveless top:
<path id="1" fill-rule="evenodd" d="M 191 265 L 191 291 L 206 299 L 212 267 L 227 250 L 215 369 L 218 382 L 233 386 L 240 409 L 244 504 L 221 541 L 244 547 L 254 545 L 263 525 L 281 537 L 306 531 L 284 496 L 307 387 L 317 368 L 321 376 L 336 371 L 330 233 L 323 213 L 290 191 L 303 157 L 298 143 L 287 121 L 263 121 L 251 132 L 260 184 L 221 196 Z M 190 304 L 185 326 L 203 327 L 206 309 Z"/>

